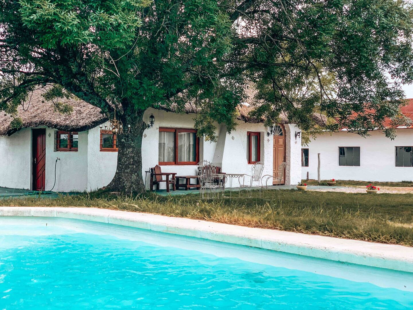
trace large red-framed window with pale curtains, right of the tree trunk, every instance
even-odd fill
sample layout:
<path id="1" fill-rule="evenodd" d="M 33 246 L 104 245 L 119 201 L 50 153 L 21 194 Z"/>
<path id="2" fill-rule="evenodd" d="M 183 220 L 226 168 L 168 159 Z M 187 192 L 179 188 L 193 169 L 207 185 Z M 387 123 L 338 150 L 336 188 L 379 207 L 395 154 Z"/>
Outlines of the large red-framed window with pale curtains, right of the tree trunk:
<path id="1" fill-rule="evenodd" d="M 195 129 L 159 128 L 159 165 L 196 165 L 199 138 Z"/>

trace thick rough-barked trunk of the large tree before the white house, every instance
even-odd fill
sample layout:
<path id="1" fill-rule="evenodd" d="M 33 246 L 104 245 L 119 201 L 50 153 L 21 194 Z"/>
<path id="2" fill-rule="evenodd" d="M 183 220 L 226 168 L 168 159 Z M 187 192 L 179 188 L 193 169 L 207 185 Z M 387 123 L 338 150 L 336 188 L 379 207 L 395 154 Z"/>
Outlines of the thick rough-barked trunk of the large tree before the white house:
<path id="1" fill-rule="evenodd" d="M 118 163 L 116 173 L 107 188 L 111 191 L 125 193 L 142 193 L 145 185 L 142 180 L 142 136 L 147 128 L 143 122 L 143 113 L 136 112 L 133 115 L 122 115 L 120 120 L 123 129 L 127 132 L 131 125 L 129 134 L 118 134 Z"/>

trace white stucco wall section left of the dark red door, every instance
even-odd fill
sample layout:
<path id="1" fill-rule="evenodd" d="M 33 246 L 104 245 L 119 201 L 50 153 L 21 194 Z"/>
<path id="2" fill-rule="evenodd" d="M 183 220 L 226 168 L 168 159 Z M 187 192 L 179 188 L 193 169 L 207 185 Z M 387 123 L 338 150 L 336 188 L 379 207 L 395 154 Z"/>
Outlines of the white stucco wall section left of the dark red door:
<path id="1" fill-rule="evenodd" d="M 0 186 L 31 188 L 31 129 L 0 137 Z"/>

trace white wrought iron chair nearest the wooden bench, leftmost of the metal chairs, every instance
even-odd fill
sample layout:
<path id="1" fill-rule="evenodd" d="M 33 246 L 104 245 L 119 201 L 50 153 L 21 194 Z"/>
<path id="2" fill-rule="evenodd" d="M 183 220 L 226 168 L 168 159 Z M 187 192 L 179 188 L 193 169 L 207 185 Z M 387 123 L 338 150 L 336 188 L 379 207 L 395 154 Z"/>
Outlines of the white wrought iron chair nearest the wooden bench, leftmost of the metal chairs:
<path id="1" fill-rule="evenodd" d="M 198 162 L 197 168 L 201 199 L 214 199 L 222 196 L 225 174 L 216 174 L 216 166 L 207 160 Z"/>

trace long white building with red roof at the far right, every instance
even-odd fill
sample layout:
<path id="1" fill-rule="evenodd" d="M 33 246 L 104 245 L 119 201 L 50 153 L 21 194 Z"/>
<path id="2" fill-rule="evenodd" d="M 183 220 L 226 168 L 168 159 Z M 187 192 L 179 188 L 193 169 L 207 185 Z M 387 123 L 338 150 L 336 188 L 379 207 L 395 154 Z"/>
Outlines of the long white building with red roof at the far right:
<path id="1" fill-rule="evenodd" d="M 413 99 L 401 112 L 413 120 Z M 391 127 L 387 120 L 385 126 Z M 413 181 L 413 124 L 395 127 L 397 137 L 386 138 L 380 130 L 363 138 L 343 129 L 326 132 L 301 150 L 302 179 L 359 181 Z"/>

